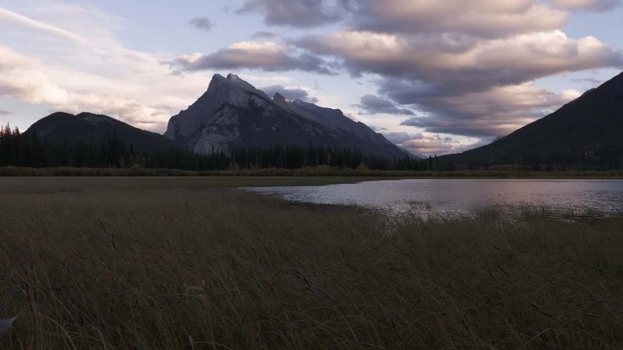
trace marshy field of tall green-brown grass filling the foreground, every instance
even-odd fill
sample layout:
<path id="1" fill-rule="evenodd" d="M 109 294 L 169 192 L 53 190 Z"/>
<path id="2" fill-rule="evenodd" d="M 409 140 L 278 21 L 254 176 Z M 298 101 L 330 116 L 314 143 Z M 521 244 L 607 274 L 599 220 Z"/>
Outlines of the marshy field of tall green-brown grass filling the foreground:
<path id="1" fill-rule="evenodd" d="M 623 348 L 623 219 L 396 221 L 243 180 L 343 181 L 0 178 L 0 349 Z"/>

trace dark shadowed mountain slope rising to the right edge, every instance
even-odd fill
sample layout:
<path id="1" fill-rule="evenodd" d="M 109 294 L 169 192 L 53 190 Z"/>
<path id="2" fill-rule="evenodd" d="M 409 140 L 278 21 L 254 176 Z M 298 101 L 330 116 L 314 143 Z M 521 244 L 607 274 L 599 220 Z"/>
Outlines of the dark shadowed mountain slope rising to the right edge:
<path id="1" fill-rule="evenodd" d="M 578 162 L 587 152 L 597 152 L 601 156 L 592 157 L 593 162 L 611 164 L 614 159 L 606 158 L 619 158 L 622 135 L 623 73 L 487 146 L 440 159 L 455 164 L 517 164 L 526 156 L 546 156 Z"/>

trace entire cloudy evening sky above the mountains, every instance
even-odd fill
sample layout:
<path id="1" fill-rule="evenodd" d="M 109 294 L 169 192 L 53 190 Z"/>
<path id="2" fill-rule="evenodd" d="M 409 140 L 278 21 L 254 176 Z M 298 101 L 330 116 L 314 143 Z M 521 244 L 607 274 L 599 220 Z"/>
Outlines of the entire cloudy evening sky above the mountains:
<path id="1" fill-rule="evenodd" d="M 164 133 L 235 73 L 416 154 L 490 143 L 623 70 L 621 0 L 0 0 L 0 125 Z"/>

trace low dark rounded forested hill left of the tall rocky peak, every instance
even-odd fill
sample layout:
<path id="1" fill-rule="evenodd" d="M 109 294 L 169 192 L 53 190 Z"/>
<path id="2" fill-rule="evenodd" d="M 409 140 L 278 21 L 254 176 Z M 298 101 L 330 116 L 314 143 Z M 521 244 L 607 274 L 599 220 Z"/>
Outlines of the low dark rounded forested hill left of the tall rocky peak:
<path id="1" fill-rule="evenodd" d="M 164 151 L 174 147 L 174 143 L 168 138 L 157 133 L 141 130 L 122 121 L 105 115 L 92 113 L 80 113 L 72 115 L 64 112 L 52 113 L 38 120 L 26 132 L 25 135 L 36 131 L 39 138 L 51 143 L 63 141 L 91 141 L 100 143 L 108 135 L 115 133 L 125 140 L 132 142 L 137 149 L 146 151 Z"/>

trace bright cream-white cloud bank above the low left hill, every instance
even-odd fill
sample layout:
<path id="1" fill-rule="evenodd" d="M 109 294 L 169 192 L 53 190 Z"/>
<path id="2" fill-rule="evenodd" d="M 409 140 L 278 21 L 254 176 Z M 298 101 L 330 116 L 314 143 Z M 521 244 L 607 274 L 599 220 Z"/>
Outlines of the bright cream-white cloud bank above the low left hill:
<path id="1" fill-rule="evenodd" d="M 206 88 L 202 77 L 179 83 L 162 63 L 165 57 L 118 42 L 114 33 L 123 19 L 51 2 L 28 11 L 29 16 L 0 11 L 9 19 L 0 20 L 0 31 L 9 38 L 0 45 L 0 96 L 54 110 L 102 113 L 161 132 L 171 115 L 193 102 L 189 96 Z"/>

